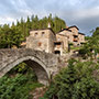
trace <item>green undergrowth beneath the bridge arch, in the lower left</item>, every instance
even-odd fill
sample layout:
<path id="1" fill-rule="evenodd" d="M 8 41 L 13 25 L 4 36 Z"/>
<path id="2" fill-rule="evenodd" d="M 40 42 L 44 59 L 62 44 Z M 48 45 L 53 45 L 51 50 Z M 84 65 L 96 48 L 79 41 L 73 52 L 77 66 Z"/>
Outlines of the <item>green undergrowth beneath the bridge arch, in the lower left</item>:
<path id="1" fill-rule="evenodd" d="M 33 69 L 22 63 L 0 78 L 0 99 L 32 99 L 30 91 L 42 86 Z"/>

